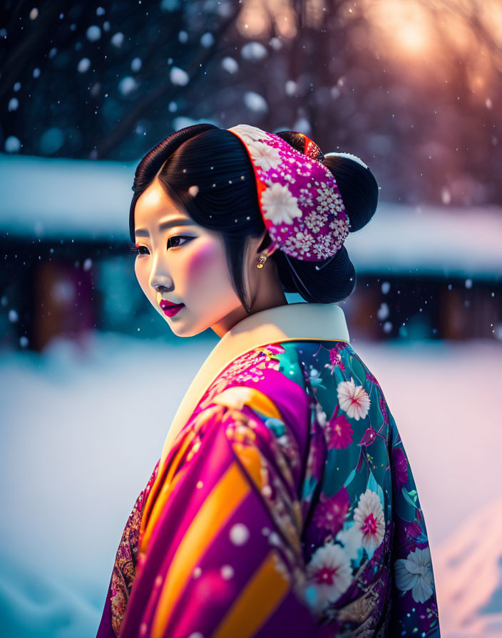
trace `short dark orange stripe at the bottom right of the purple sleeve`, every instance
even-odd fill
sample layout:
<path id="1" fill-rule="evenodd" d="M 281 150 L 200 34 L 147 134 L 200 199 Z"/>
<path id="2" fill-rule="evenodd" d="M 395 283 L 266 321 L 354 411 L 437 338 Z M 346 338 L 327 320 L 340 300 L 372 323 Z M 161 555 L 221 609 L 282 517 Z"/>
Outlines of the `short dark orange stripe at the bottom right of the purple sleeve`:
<path id="1" fill-rule="evenodd" d="M 290 589 L 275 560 L 275 550 L 270 550 L 211 638 L 247 638 L 267 622 Z"/>

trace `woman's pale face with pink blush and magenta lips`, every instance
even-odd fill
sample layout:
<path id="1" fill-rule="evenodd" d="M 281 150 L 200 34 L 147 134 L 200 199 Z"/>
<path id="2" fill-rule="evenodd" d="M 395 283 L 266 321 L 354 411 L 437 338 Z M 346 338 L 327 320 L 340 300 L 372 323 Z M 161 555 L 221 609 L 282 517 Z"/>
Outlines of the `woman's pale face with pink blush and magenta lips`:
<path id="1" fill-rule="evenodd" d="M 222 336 L 247 316 L 232 286 L 222 235 L 175 208 L 157 180 L 138 198 L 134 221 L 136 277 L 173 333 L 190 337 L 212 328 Z M 165 301 L 183 305 L 166 313 Z"/>

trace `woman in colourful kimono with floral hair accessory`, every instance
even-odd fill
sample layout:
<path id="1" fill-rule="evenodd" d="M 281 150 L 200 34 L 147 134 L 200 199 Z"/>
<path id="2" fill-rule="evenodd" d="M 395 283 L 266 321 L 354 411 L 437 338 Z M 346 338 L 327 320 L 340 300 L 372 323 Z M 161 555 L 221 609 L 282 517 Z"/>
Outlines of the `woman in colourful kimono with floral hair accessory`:
<path id="1" fill-rule="evenodd" d="M 148 152 L 133 190 L 145 296 L 176 335 L 220 341 L 128 519 L 98 637 L 439 637 L 409 462 L 335 303 L 344 239 L 376 210 L 368 167 L 204 124 Z"/>

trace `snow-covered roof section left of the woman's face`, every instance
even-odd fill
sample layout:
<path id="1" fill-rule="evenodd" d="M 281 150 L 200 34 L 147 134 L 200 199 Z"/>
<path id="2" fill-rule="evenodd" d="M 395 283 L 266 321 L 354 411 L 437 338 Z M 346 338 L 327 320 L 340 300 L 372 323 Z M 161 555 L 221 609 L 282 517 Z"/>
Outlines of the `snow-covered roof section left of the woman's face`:
<path id="1" fill-rule="evenodd" d="M 137 164 L 0 153 L 0 231 L 128 239 Z"/>

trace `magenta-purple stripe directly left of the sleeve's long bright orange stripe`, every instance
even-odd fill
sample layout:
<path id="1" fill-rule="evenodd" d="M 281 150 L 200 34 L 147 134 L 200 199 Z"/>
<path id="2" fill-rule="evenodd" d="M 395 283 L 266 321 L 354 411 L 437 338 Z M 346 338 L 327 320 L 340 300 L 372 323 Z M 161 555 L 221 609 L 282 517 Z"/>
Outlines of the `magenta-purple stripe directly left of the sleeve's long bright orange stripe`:
<path id="1" fill-rule="evenodd" d="M 126 617 L 121 627 L 121 638 L 136 638 L 140 624 L 150 624 L 161 589 L 153 586 L 155 578 L 158 575 L 165 577 L 173 555 L 193 517 L 232 461 L 233 456 L 224 430 L 217 424 L 210 427 L 197 454 L 187 464 L 185 476 L 170 494 L 155 525 L 145 563 L 138 570 L 133 583 Z M 202 488 L 196 487 L 200 480 L 203 481 Z"/>

